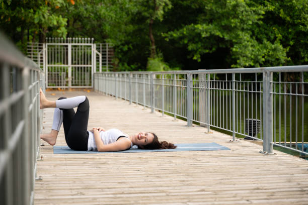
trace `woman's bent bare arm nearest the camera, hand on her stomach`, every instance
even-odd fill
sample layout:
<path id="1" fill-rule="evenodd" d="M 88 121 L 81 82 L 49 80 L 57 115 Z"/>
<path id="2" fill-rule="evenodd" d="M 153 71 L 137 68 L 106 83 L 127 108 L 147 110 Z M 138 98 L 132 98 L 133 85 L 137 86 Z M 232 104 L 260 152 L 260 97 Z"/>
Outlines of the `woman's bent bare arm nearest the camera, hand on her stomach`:
<path id="1" fill-rule="evenodd" d="M 104 142 L 102 141 L 100 133 L 97 129 L 94 129 L 94 139 L 97 146 L 97 150 L 99 152 L 122 151 L 130 148 L 131 145 L 130 140 L 126 137 L 123 137 L 114 143 L 104 145 Z"/>

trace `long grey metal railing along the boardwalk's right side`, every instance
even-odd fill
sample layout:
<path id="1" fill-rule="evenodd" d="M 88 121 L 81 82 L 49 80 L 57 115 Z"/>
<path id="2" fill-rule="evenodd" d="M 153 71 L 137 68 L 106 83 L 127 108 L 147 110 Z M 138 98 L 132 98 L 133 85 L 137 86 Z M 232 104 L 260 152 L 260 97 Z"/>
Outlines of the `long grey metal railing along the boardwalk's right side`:
<path id="1" fill-rule="evenodd" d="M 308 154 L 308 66 L 94 73 L 94 89 L 174 119 Z M 284 109 L 283 109 L 284 108 Z"/>

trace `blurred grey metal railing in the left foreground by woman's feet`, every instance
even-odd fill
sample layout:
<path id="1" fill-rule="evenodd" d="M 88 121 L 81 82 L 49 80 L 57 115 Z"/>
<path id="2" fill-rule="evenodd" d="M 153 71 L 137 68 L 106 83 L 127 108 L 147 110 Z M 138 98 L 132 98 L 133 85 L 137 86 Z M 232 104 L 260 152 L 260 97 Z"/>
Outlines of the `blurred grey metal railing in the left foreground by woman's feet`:
<path id="1" fill-rule="evenodd" d="M 44 73 L 0 34 L 0 204 L 33 204 Z"/>

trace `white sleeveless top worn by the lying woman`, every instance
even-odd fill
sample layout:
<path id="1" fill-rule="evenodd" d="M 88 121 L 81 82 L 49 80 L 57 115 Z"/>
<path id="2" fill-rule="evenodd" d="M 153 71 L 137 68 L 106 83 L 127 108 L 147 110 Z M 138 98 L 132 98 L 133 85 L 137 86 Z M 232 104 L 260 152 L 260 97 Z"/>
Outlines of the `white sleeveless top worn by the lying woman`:
<path id="1" fill-rule="evenodd" d="M 94 134 L 90 131 L 88 132 L 89 132 L 88 151 L 97 151 Z M 114 129 L 114 128 L 107 130 L 107 131 L 100 132 L 100 137 L 102 141 L 104 142 L 104 145 L 108 145 L 108 144 L 116 142 L 120 136 L 124 136 L 128 138 L 128 136 L 125 133 L 123 133 L 121 130 Z M 132 148 L 132 146 L 133 144 L 131 143 L 130 148 Z"/>

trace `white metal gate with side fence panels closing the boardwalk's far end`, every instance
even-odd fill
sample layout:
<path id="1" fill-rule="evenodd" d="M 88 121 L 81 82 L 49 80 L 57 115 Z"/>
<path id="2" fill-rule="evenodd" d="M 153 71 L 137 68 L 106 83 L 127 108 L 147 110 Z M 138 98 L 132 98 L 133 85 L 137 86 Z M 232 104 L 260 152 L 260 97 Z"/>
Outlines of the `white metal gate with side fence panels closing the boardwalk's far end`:
<path id="1" fill-rule="evenodd" d="M 110 44 L 94 44 L 90 38 L 46 38 L 28 43 L 28 57 L 45 72 L 46 87 L 93 87 L 93 73 L 112 68 Z"/>

